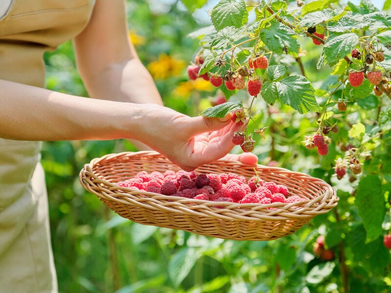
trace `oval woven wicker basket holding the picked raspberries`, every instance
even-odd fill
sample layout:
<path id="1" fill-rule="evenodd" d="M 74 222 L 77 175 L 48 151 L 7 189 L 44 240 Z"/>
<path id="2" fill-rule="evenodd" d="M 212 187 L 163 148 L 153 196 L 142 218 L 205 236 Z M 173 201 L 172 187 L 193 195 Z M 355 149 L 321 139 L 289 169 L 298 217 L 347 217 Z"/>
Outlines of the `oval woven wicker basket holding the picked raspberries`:
<path id="1" fill-rule="evenodd" d="M 305 198 L 296 203 L 240 204 L 187 199 L 119 187 L 116 182 L 139 171 L 179 168 L 157 152 L 123 152 L 93 159 L 80 171 L 83 187 L 110 209 L 133 222 L 186 230 L 235 240 L 273 240 L 294 233 L 310 219 L 337 205 L 335 189 L 303 173 L 278 167 L 255 166 L 261 179 L 283 184 L 290 195 Z M 195 169 L 196 173 L 254 175 L 254 166 L 219 160 Z"/>

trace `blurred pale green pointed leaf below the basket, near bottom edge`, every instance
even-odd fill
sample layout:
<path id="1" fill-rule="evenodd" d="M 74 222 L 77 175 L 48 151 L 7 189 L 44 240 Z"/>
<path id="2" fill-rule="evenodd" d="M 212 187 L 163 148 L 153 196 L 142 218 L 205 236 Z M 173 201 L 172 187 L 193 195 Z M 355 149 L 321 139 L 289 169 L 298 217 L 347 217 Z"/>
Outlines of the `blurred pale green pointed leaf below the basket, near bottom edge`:
<path id="1" fill-rule="evenodd" d="M 198 257 L 199 254 L 196 253 L 195 249 L 188 247 L 182 248 L 174 254 L 168 264 L 168 274 L 175 287 L 178 287 L 183 279 L 187 277 Z"/>

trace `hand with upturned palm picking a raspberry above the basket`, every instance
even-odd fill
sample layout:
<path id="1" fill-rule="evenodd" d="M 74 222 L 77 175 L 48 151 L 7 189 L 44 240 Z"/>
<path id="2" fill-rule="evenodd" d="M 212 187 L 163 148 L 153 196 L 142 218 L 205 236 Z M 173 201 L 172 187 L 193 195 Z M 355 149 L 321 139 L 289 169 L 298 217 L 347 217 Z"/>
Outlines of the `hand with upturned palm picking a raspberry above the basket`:
<path id="1" fill-rule="evenodd" d="M 234 146 L 232 136 L 241 126 L 224 118 L 189 117 L 170 108 L 144 104 L 140 127 L 133 138 L 190 171 L 224 157 Z"/>

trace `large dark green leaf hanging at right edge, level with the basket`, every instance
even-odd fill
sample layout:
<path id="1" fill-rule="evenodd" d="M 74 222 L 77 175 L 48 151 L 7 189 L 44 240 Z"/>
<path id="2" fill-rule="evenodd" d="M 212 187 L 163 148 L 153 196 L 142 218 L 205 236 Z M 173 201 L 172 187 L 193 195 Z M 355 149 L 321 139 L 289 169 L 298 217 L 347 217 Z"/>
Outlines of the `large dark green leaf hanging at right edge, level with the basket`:
<path id="1" fill-rule="evenodd" d="M 355 205 L 367 231 L 366 242 L 369 243 L 383 232 L 382 223 L 386 212 L 379 176 L 367 175 L 360 180 Z"/>

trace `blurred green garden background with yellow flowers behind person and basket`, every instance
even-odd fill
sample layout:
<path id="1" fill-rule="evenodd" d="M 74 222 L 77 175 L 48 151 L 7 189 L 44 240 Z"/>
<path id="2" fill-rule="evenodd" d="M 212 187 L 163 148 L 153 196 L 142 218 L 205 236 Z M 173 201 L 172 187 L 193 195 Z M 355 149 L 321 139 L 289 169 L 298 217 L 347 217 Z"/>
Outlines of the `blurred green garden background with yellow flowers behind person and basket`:
<path id="1" fill-rule="evenodd" d="M 129 38 L 151 72 L 164 104 L 190 116 L 211 106 L 217 97 L 209 82 L 189 81 L 186 74 L 198 49 L 198 40 L 188 34 L 210 24 L 206 10 L 217 1 L 201 2 L 205 6 L 192 14 L 181 1 L 127 1 Z M 379 8 L 384 3 L 372 2 Z M 307 78 L 322 102 L 322 84 L 331 69 L 316 70 L 321 46 L 304 38 L 299 42 L 306 53 L 302 61 Z M 44 59 L 49 89 L 87 96 L 71 42 L 46 53 Z M 300 74 L 294 62 L 290 70 Z M 247 99 L 245 95 L 242 91 L 231 100 Z M 317 129 L 316 114 L 300 115 L 286 106 L 270 107 L 262 101 L 255 105 L 255 119 L 261 126 L 269 126 L 266 138 L 257 138 L 254 150 L 260 164 L 322 178 L 337 188 L 341 198 L 338 209 L 317 216 L 293 235 L 270 242 L 222 240 L 132 223 L 87 193 L 78 178 L 83 165 L 95 157 L 135 151 L 129 142 L 45 142 L 42 163 L 60 292 L 337 293 L 348 286 L 354 293 L 390 292 L 390 252 L 380 237 L 365 243 L 365 230 L 354 206 L 353 190 L 360 175 L 352 182 L 332 176 L 334 160 L 342 153 L 337 145 L 348 140 L 349 126 L 344 121 L 376 118 L 380 102 L 373 102 L 373 97 L 371 94 L 359 107 L 352 103 L 349 113 L 339 113 L 336 122 L 341 130 L 330 134 L 332 144 L 325 157 L 302 144 L 304 135 Z M 358 108 L 361 112 L 355 111 Z M 233 150 L 239 151 L 238 146 Z M 366 163 L 364 170 L 380 174 L 379 166 L 391 163 L 389 154 L 390 140 L 385 140 L 377 161 Z M 390 228 L 389 222 L 386 215 L 385 230 Z M 326 237 L 331 251 L 327 259 L 314 254 L 320 235 Z"/>

